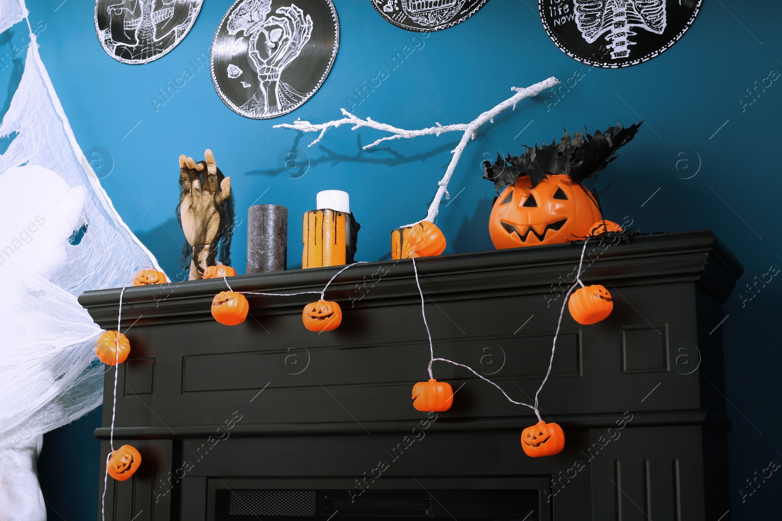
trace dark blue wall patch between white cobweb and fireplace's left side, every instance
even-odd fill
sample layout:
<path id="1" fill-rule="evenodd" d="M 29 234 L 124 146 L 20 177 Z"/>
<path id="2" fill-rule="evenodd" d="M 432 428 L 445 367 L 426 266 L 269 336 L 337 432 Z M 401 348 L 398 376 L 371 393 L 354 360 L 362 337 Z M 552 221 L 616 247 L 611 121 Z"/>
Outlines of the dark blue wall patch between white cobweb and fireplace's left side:
<path id="1" fill-rule="evenodd" d="M 100 441 L 102 407 L 73 423 L 44 434 L 38 457 L 38 481 L 46 501 L 46 518 L 98 519 L 99 483 L 102 483 Z"/>

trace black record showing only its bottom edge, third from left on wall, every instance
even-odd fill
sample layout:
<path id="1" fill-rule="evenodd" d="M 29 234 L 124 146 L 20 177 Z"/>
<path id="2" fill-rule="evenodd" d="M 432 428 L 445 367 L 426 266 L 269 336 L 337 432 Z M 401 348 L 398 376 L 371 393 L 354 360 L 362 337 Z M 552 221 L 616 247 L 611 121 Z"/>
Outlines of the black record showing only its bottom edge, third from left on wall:
<path id="1" fill-rule="evenodd" d="M 371 0 L 383 18 L 403 29 L 429 32 L 464 22 L 487 0 Z"/>

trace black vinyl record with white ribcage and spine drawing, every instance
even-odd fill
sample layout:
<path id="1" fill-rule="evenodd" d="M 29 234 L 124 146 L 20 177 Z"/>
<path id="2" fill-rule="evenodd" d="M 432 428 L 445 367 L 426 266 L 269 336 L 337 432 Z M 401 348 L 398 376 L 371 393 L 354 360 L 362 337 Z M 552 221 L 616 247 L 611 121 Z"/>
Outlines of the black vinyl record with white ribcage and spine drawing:
<path id="1" fill-rule="evenodd" d="M 702 0 L 538 0 L 551 40 L 573 59 L 616 68 L 670 48 L 689 29 Z"/>

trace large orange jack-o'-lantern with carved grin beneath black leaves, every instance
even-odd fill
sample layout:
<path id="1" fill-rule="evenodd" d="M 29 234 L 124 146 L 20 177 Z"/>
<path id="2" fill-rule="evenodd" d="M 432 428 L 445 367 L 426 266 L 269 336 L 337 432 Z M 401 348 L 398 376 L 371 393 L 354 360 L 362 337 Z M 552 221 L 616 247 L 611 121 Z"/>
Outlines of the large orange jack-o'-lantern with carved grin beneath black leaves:
<path id="1" fill-rule="evenodd" d="M 489 234 L 494 248 L 561 244 L 586 237 L 601 218 L 594 196 L 566 175 L 547 175 L 532 188 L 519 177 L 494 202 Z"/>

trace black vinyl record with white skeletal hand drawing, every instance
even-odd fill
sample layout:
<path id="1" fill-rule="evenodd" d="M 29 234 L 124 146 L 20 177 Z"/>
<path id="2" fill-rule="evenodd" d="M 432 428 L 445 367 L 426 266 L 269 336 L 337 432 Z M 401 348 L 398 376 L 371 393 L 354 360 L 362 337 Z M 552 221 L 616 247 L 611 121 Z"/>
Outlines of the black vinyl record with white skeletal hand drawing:
<path id="1" fill-rule="evenodd" d="M 332 70 L 339 19 L 331 0 L 238 0 L 212 42 L 212 83 L 242 116 L 297 109 Z"/>

